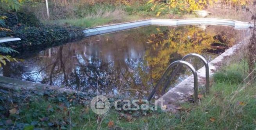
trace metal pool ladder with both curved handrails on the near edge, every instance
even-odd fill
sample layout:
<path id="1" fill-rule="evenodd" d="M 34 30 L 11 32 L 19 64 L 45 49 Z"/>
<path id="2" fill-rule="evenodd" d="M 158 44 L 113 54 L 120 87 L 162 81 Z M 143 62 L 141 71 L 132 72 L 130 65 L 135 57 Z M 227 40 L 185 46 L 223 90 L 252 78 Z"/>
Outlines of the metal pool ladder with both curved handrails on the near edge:
<path id="1" fill-rule="evenodd" d="M 156 90 L 159 88 L 159 85 L 163 82 L 163 80 L 166 78 L 167 74 L 169 73 L 170 69 L 172 67 L 174 67 L 175 65 L 178 64 L 177 68 L 174 70 L 174 72 L 171 74 L 170 78 L 167 80 L 167 82 L 164 85 L 164 88 L 162 90 L 162 94 L 165 93 L 166 88 L 168 87 L 168 84 L 170 84 L 170 82 L 172 81 L 172 79 L 174 78 L 174 76 L 176 75 L 176 73 L 179 71 L 179 69 L 181 68 L 181 65 L 186 65 L 188 66 L 188 68 L 190 68 L 190 70 L 193 73 L 194 76 L 194 102 L 197 102 L 198 100 L 198 77 L 197 77 L 197 71 L 195 70 L 195 68 L 188 62 L 184 61 L 186 59 L 188 59 L 188 57 L 197 57 L 199 59 L 201 59 L 201 61 L 204 62 L 204 66 L 206 68 L 206 93 L 209 94 L 209 66 L 208 66 L 208 62 L 206 61 L 206 59 L 204 57 L 202 57 L 202 55 L 199 55 L 197 53 L 190 53 L 188 55 L 185 55 L 181 61 L 175 61 L 172 62 L 166 69 L 165 73 L 163 74 L 163 76 L 160 78 L 160 80 L 158 81 L 158 83 L 156 84 L 156 87 L 154 87 L 154 89 L 152 90 L 152 92 L 150 93 L 149 97 L 148 97 L 148 101 L 151 100 L 151 98 L 154 96 L 154 94 L 156 93 Z"/>

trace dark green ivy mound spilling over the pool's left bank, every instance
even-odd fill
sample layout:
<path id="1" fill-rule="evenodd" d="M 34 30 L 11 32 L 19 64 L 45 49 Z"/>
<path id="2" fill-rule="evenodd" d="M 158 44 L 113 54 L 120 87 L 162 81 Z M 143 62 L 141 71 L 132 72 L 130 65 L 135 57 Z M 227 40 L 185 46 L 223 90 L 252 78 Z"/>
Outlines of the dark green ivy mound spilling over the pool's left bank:
<path id="1" fill-rule="evenodd" d="M 3 47 L 12 48 L 20 53 L 37 51 L 50 46 L 61 45 L 67 41 L 84 36 L 80 28 L 44 26 L 31 12 L 1 12 L 5 28 L 11 32 L 0 31 L 0 37 L 19 37 L 21 41 L 3 43 Z"/>

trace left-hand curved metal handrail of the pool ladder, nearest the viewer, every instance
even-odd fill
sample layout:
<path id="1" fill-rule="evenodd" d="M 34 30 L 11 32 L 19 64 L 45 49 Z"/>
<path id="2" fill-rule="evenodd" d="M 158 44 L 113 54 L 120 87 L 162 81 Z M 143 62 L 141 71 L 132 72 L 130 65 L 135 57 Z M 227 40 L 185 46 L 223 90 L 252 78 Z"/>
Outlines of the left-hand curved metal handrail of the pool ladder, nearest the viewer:
<path id="1" fill-rule="evenodd" d="M 188 68 L 190 68 L 190 70 L 192 71 L 193 73 L 193 76 L 194 76 L 194 101 L 197 102 L 197 99 L 198 99 L 198 94 L 197 94 L 197 91 L 198 91 L 198 80 L 197 80 L 197 71 L 195 70 L 195 68 L 188 62 L 186 61 L 174 61 L 172 62 L 168 67 L 167 69 L 165 70 L 163 76 L 160 78 L 160 80 L 158 81 L 158 83 L 156 84 L 156 87 L 154 87 L 153 91 L 150 93 L 149 97 L 148 97 L 148 101 L 151 100 L 152 96 L 156 93 L 156 90 L 158 89 L 159 85 L 161 84 L 161 82 L 163 82 L 163 79 L 167 76 L 168 72 L 170 71 L 170 69 L 172 67 L 174 67 L 175 65 L 185 65 L 185 66 L 188 66 Z"/>

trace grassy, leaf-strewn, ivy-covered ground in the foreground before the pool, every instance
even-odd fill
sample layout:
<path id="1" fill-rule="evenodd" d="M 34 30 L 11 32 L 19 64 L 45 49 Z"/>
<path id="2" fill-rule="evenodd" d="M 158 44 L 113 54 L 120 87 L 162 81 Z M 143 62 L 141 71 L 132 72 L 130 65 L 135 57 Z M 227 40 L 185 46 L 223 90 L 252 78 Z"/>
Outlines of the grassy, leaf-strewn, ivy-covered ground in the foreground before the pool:
<path id="1" fill-rule="evenodd" d="M 209 95 L 201 95 L 198 105 L 184 104 L 175 114 L 111 107 L 98 116 L 89 107 L 93 93 L 0 89 L 0 130 L 255 130 L 256 83 L 249 82 L 243 65 L 235 62 L 223 67 L 214 75 Z M 120 97 L 109 100 L 113 103 Z"/>

